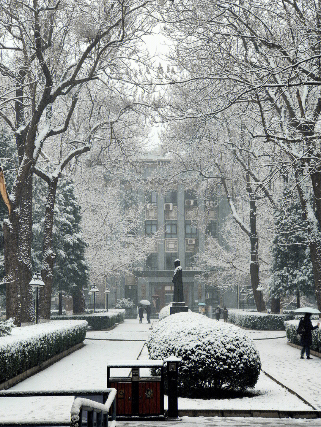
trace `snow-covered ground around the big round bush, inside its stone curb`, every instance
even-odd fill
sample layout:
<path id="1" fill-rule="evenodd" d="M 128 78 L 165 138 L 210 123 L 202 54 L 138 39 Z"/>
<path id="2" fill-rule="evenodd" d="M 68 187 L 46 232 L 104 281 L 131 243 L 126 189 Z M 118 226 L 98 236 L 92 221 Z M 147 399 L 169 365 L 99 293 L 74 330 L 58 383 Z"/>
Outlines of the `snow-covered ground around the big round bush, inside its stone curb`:
<path id="1" fill-rule="evenodd" d="M 268 340 L 271 341 L 271 340 Z M 139 359 L 148 359 L 144 346 Z M 141 369 L 141 376 L 150 375 L 149 369 Z M 303 401 L 271 378 L 261 372 L 251 397 L 240 399 L 188 399 L 178 398 L 178 409 L 273 409 L 273 410 L 311 410 Z M 165 396 L 165 409 L 168 408 L 168 397 Z"/>

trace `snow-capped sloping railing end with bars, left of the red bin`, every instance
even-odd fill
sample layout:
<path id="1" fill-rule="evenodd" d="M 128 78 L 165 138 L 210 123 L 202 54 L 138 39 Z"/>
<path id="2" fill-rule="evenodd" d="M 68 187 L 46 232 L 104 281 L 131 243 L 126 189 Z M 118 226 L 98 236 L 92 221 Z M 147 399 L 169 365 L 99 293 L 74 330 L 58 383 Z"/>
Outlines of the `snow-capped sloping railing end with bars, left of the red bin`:
<path id="1" fill-rule="evenodd" d="M 96 412 L 96 426 L 97 427 L 115 427 L 116 425 L 116 406 L 115 406 L 115 397 L 117 390 L 116 389 L 106 389 L 108 393 L 108 398 L 105 404 L 92 401 L 85 398 L 77 398 L 74 400 L 74 403 L 71 407 L 71 427 L 82 427 L 82 411 L 87 411 L 87 427 L 94 426 L 94 412 Z M 108 426 L 108 412 L 110 407 L 112 407 L 112 422 Z"/>

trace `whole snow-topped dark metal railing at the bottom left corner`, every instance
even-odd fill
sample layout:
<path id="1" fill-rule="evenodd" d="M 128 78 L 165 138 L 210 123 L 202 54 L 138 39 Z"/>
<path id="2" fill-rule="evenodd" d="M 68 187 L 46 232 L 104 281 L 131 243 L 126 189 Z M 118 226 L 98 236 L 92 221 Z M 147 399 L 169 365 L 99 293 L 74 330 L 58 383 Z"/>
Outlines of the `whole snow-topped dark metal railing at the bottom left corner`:
<path id="1" fill-rule="evenodd" d="M 116 425 L 116 389 L 65 389 L 65 390 L 6 390 L 0 391 L 0 397 L 45 397 L 45 396 L 75 396 L 71 407 L 71 427 L 82 427 L 83 411 L 88 411 L 87 426 L 94 426 L 96 413 L 97 427 L 115 427 Z M 102 396 L 104 404 L 77 396 Z M 108 413 L 112 408 L 112 420 L 108 422 Z"/>

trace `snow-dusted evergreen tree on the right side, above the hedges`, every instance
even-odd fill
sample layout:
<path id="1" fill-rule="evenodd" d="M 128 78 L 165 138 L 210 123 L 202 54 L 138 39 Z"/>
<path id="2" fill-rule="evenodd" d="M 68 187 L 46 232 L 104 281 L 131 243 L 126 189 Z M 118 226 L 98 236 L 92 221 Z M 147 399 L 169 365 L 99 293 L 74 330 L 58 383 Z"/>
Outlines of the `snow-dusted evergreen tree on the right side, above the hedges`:
<path id="1" fill-rule="evenodd" d="M 314 277 L 306 222 L 298 197 L 286 203 L 285 213 L 274 213 L 275 237 L 269 291 L 274 298 L 312 295 Z"/>

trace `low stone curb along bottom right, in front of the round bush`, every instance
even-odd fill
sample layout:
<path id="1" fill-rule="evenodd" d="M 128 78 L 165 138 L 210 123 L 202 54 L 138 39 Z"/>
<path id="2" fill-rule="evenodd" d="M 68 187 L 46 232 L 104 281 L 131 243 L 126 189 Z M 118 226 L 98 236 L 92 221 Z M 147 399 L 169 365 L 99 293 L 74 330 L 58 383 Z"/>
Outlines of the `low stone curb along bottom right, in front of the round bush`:
<path id="1" fill-rule="evenodd" d="M 274 411 L 266 409 L 178 409 L 180 417 L 320 418 L 319 411 Z"/>

